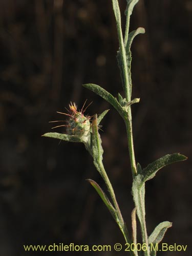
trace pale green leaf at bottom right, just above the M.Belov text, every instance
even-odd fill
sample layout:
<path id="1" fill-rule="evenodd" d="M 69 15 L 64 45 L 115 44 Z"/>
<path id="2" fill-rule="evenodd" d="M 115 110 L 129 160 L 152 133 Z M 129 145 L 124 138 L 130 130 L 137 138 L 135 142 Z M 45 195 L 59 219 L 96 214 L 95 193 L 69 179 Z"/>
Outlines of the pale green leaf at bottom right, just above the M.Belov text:
<path id="1" fill-rule="evenodd" d="M 161 222 L 148 237 L 148 244 L 159 244 L 164 237 L 166 230 L 172 227 L 172 223 L 169 221 Z"/>

